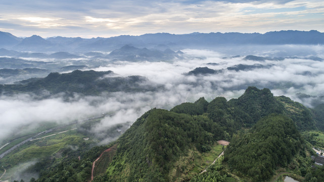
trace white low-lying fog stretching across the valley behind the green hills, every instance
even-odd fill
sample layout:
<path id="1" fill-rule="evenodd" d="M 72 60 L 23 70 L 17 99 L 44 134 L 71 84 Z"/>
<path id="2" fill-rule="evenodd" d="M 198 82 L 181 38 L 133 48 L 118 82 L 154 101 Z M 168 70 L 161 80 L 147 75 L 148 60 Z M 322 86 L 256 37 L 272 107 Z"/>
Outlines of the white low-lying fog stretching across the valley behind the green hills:
<path id="1" fill-rule="evenodd" d="M 297 48 L 289 49 L 296 51 Z M 304 50 L 307 49 L 312 50 L 309 55 L 304 54 L 300 58 L 285 58 L 280 61 L 253 61 L 245 60 L 247 55 L 230 57 L 215 51 L 181 50 L 187 59 L 168 62 L 107 62 L 94 70 L 111 70 L 119 76 L 146 76 L 152 84 L 162 84 L 165 89 L 146 93 L 102 93 L 100 96 L 85 97 L 75 94 L 69 102 L 64 100 L 62 95 L 43 100 L 35 100 L 34 96 L 27 94 L 1 96 L 0 143 L 13 132 L 19 132 L 17 128 L 22 125 L 32 124 L 30 127 L 33 127 L 45 121 L 67 123 L 102 113 L 114 113 L 91 128 L 92 132 L 101 133 L 117 123 L 132 123 L 151 108 L 169 110 L 183 102 L 194 102 L 200 97 L 205 97 L 208 101 L 215 97 L 237 98 L 249 85 L 268 87 L 275 96 L 285 95 L 307 107 L 312 107 L 314 98 L 301 99 L 298 96 L 299 93 L 314 97 L 324 95 L 324 64 L 322 61 L 303 58 L 310 56 L 324 58 L 324 47 L 305 46 Z M 277 56 L 275 53 L 278 52 L 280 56 L 285 57 L 280 50 L 268 50 L 254 55 L 275 57 Z M 260 64 L 263 67 L 240 71 L 226 69 L 238 64 Z M 218 73 L 183 74 L 197 67 L 208 67 L 217 70 Z"/>

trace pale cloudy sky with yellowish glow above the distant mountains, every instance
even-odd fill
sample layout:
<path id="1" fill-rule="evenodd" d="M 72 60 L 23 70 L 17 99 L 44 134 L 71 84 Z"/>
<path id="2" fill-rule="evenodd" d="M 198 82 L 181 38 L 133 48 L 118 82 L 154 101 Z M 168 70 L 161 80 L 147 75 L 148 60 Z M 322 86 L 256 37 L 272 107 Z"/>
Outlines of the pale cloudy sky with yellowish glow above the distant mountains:
<path id="1" fill-rule="evenodd" d="M 0 31 L 28 37 L 324 32 L 322 0 L 0 0 Z"/>

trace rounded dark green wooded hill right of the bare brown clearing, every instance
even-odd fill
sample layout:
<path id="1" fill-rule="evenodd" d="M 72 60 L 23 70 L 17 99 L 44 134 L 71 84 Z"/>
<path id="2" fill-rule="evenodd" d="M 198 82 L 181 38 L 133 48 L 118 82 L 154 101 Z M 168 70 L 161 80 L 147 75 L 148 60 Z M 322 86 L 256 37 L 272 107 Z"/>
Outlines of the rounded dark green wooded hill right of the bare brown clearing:
<path id="1" fill-rule="evenodd" d="M 259 120 L 247 133 L 239 133 L 225 151 L 230 170 L 253 181 L 269 179 L 278 167 L 287 167 L 305 142 L 293 120 L 271 114 Z"/>

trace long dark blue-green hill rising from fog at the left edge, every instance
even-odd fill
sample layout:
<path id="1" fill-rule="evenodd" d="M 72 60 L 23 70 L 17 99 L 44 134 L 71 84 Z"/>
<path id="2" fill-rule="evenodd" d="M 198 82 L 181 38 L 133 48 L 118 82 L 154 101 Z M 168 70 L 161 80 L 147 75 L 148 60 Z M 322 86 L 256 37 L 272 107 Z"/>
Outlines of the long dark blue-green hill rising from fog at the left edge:
<path id="1" fill-rule="evenodd" d="M 0 85 L 0 93 L 43 93 L 50 94 L 79 93 L 84 95 L 98 95 L 101 92 L 136 92 L 154 90 L 143 76 L 119 77 L 112 71 L 80 71 L 71 73 L 50 73 L 44 78 L 31 78 L 17 84 Z"/>

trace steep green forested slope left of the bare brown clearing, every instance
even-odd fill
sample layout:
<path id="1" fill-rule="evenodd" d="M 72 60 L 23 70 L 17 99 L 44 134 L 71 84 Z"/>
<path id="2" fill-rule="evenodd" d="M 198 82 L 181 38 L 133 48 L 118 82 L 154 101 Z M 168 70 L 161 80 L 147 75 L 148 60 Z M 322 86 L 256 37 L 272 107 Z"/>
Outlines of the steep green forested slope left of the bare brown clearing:
<path id="1" fill-rule="evenodd" d="M 224 136 L 220 126 L 207 117 L 152 109 L 117 141 L 117 154 L 107 177 L 116 181 L 174 181 L 183 177 L 193 162 L 179 161 L 183 156 L 190 155 L 189 151 L 207 152 Z M 172 170 L 175 173 L 170 173 Z"/>

